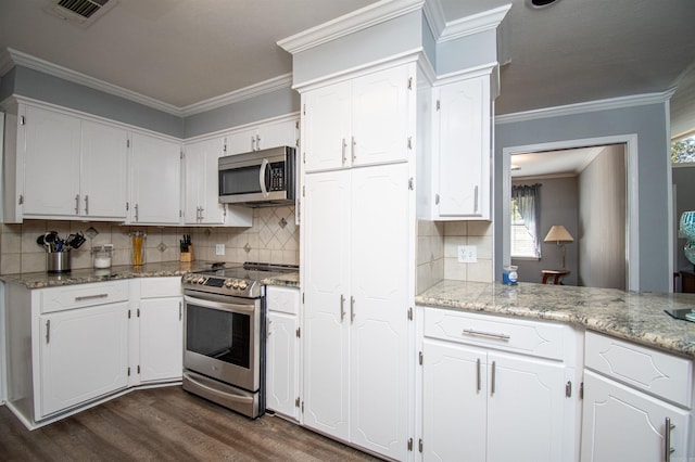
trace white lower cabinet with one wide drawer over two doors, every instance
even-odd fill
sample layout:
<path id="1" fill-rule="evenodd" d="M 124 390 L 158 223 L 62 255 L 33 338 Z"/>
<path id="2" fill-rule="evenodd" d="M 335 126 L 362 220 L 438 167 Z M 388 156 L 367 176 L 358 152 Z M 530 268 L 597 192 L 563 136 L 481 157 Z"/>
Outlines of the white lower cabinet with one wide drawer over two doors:
<path id="1" fill-rule="evenodd" d="M 576 460 L 572 338 L 560 325 L 425 309 L 422 460 Z"/>

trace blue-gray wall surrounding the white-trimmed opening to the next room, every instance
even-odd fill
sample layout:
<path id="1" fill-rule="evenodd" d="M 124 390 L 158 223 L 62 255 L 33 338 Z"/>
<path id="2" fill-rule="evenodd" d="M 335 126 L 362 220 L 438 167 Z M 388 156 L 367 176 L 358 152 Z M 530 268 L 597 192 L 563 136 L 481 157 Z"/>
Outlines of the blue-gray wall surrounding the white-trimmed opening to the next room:
<path id="1" fill-rule="evenodd" d="M 504 87 L 502 88 L 504 92 Z M 502 155 L 509 146 L 551 143 L 621 134 L 637 134 L 640 206 L 640 290 L 668 292 L 669 232 L 669 153 L 667 104 L 656 103 L 627 108 L 593 111 L 584 114 L 552 116 L 495 125 L 494 223 L 495 274 L 503 266 L 503 183 Z M 655 224 L 657 223 L 657 224 Z"/>

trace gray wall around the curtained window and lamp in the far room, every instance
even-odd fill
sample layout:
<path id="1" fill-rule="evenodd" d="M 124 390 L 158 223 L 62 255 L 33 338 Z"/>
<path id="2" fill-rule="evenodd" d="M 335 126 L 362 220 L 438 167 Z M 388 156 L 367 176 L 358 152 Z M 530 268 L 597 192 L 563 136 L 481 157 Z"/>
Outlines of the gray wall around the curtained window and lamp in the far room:
<path id="1" fill-rule="evenodd" d="M 519 267 L 519 281 L 538 282 L 543 278 L 541 270 L 559 269 L 563 254 L 556 243 L 543 242 L 553 224 L 563 224 L 574 238 L 566 243 L 566 265 L 571 271 L 564 278 L 566 285 L 577 285 L 578 275 L 578 235 L 579 235 L 579 192 L 577 177 L 514 179 L 513 185 L 535 184 L 541 187 L 541 259 L 513 258 L 511 265 Z"/>

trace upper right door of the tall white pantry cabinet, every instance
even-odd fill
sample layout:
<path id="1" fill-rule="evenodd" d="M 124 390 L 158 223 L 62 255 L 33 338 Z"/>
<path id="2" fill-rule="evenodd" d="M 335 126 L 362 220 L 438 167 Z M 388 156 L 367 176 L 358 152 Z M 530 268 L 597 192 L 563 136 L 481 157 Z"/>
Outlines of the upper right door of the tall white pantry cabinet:
<path id="1" fill-rule="evenodd" d="M 407 159 L 409 78 L 409 66 L 399 66 L 353 80 L 353 166 Z"/>

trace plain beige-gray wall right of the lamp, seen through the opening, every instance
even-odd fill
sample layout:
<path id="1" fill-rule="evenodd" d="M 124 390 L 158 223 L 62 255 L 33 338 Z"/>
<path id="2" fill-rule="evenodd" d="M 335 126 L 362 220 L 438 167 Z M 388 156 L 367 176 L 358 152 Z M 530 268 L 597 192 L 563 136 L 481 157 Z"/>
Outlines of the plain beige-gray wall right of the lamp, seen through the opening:
<path id="1" fill-rule="evenodd" d="M 624 146 L 606 146 L 581 172 L 579 191 L 579 284 L 624 290 Z"/>

